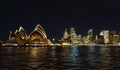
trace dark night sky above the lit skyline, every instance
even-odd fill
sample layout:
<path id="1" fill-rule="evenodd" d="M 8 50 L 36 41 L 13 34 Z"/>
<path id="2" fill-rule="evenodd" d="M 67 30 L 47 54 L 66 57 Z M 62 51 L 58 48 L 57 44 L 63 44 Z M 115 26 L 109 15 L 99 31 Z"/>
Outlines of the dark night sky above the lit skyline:
<path id="1" fill-rule="evenodd" d="M 75 27 L 77 34 L 93 28 L 120 28 L 120 4 L 111 0 L 9 0 L 0 2 L 0 39 L 8 38 L 9 31 L 23 26 L 29 34 L 41 24 L 48 38 L 60 38 L 65 28 Z"/>

